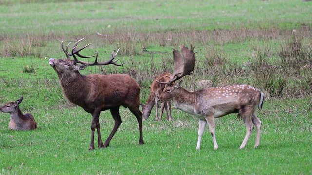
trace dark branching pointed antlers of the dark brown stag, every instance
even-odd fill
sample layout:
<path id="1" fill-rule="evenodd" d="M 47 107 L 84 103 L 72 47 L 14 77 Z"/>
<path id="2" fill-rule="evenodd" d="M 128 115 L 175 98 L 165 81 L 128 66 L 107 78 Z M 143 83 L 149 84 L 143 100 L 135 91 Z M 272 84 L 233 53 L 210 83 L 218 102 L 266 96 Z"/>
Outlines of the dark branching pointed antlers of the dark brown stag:
<path id="1" fill-rule="evenodd" d="M 79 52 L 80 52 L 81 50 L 83 50 L 84 48 L 88 47 L 88 46 L 91 44 L 91 43 L 90 43 L 90 44 L 87 44 L 86 46 L 82 47 L 81 49 L 76 50 L 76 47 L 77 47 L 78 43 L 79 43 L 80 41 L 82 41 L 83 39 L 84 39 L 84 38 L 80 39 L 79 41 L 77 41 L 77 42 L 74 44 L 74 47 L 73 47 L 73 49 L 72 49 L 72 51 L 71 51 L 71 54 L 68 53 L 68 47 L 69 47 L 70 43 L 67 44 L 66 49 L 65 49 L 64 46 L 63 46 L 64 41 L 62 41 L 62 43 L 61 43 L 62 49 L 63 49 L 64 53 L 66 54 L 67 59 L 70 59 L 70 57 L 73 56 L 73 58 L 74 58 L 74 64 L 81 63 L 81 64 L 87 64 L 87 65 L 89 65 L 89 66 L 95 66 L 95 65 L 109 65 L 109 64 L 113 64 L 113 65 L 116 65 L 116 66 L 122 66 L 122 65 L 124 64 L 124 63 L 122 63 L 122 64 L 117 64 L 116 62 L 117 62 L 119 59 L 113 61 L 113 60 L 116 58 L 117 53 L 119 52 L 120 48 L 117 50 L 116 53 L 115 53 L 115 50 L 114 50 L 114 51 L 112 52 L 112 54 L 111 54 L 111 58 L 110 58 L 108 61 L 106 61 L 106 62 L 98 62 L 98 51 L 96 51 L 96 54 L 93 55 L 93 56 L 82 56 Z M 84 62 L 84 61 L 79 61 L 79 60 L 76 58 L 75 55 L 79 56 L 80 58 L 92 58 L 92 57 L 96 57 L 96 58 L 95 58 L 95 61 L 94 61 L 93 63 L 88 63 L 88 62 Z"/>

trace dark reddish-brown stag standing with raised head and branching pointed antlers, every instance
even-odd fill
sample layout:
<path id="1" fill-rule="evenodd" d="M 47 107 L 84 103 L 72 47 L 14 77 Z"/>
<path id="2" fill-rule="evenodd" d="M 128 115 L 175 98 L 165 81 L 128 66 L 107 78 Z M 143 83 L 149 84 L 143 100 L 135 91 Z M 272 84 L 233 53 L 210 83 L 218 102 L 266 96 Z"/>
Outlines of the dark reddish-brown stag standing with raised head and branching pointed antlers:
<path id="1" fill-rule="evenodd" d="M 109 64 L 116 66 L 123 65 L 117 64 L 116 62 L 118 60 L 114 61 L 119 50 L 116 53 L 113 51 L 111 58 L 108 61 L 98 62 L 97 51 L 94 56 L 82 56 L 79 53 L 82 49 L 86 48 L 91 43 L 79 50 L 76 50 L 78 43 L 83 39 L 80 39 L 75 43 L 71 53 L 68 53 L 68 46 L 70 43 L 65 49 L 62 41 L 61 46 L 67 58 L 51 58 L 49 64 L 58 74 L 64 96 L 73 104 L 82 107 L 86 112 L 92 114 L 91 142 L 89 149 L 94 149 L 95 128 L 97 128 L 98 133 L 98 148 L 109 146 L 111 139 L 122 122 L 119 114 L 120 106 L 125 108 L 128 107 L 131 113 L 137 117 L 140 132 L 139 144 L 144 144 L 142 135 L 142 113 L 139 111 L 140 87 L 137 82 L 126 74 L 89 74 L 84 76 L 81 75 L 78 71 L 85 69 L 87 66 Z M 95 61 L 94 63 L 79 61 L 75 55 L 79 56 L 80 58 L 95 57 Z M 73 56 L 74 60 L 71 60 L 70 56 Z M 110 110 L 115 120 L 115 125 L 112 132 L 103 144 L 100 133 L 99 115 L 101 111 L 105 110 Z"/>

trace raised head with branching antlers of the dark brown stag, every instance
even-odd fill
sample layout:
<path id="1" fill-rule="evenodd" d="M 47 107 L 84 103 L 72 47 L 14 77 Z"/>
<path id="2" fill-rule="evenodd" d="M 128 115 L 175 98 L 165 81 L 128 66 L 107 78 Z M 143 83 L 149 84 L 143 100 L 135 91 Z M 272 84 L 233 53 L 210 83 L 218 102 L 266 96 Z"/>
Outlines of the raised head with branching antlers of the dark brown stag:
<path id="1" fill-rule="evenodd" d="M 116 53 L 114 53 L 114 51 L 112 52 L 111 58 L 110 60 L 106 61 L 106 62 L 98 62 L 98 51 L 96 51 L 96 54 L 93 56 L 82 56 L 79 52 L 81 50 L 83 50 L 84 48 L 88 47 L 90 44 L 84 46 L 83 48 L 76 50 L 76 47 L 78 45 L 78 43 L 80 41 L 82 41 L 84 38 L 80 39 L 79 41 L 77 41 L 71 51 L 71 53 L 68 53 L 68 47 L 70 45 L 70 43 L 67 45 L 66 49 L 63 46 L 63 42 L 61 43 L 62 49 L 64 51 L 64 53 L 66 54 L 66 59 L 55 59 L 55 58 L 50 58 L 49 60 L 49 64 L 50 66 L 53 67 L 53 69 L 57 72 L 57 74 L 59 76 L 61 76 L 64 73 L 75 73 L 78 70 L 83 70 L 85 69 L 87 66 L 94 66 L 94 65 L 108 65 L 108 64 L 114 64 L 116 66 L 121 66 L 123 64 L 116 64 L 116 62 L 118 61 L 115 60 L 115 57 L 117 55 L 117 53 L 119 52 L 119 49 Z M 84 62 L 84 61 L 79 61 L 76 57 L 76 55 L 80 58 L 92 58 L 95 57 L 95 61 L 93 63 L 88 63 L 88 62 Z M 70 57 L 73 56 L 74 60 L 71 60 Z"/>

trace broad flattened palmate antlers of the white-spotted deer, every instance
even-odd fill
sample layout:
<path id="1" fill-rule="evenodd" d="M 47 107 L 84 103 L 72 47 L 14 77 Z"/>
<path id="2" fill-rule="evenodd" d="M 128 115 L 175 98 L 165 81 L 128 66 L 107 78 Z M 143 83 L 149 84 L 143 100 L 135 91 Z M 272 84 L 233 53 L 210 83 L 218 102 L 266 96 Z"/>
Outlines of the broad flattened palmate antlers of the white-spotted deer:
<path id="1" fill-rule="evenodd" d="M 191 75 L 195 66 L 195 53 L 193 52 L 194 47 L 191 45 L 191 50 L 188 47 L 180 46 L 181 52 L 174 49 L 174 73 L 169 77 L 168 82 L 158 83 L 171 85 L 176 80 L 181 79 L 185 75 Z"/>

